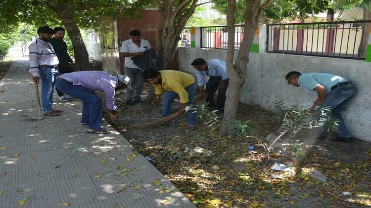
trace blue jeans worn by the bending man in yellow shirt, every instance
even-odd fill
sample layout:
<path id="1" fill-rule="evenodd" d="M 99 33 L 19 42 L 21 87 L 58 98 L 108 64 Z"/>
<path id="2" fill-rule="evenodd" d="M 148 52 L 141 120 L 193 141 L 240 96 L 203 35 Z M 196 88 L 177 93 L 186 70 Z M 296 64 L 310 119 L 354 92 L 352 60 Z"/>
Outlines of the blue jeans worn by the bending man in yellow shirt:
<path id="1" fill-rule="evenodd" d="M 188 93 L 188 102 L 186 105 L 193 104 L 194 94 L 196 93 L 196 84 L 191 84 L 185 87 L 185 91 Z M 162 116 L 169 116 L 171 114 L 171 106 L 174 103 L 175 98 L 178 96 L 176 92 L 164 90 L 162 95 Z M 188 115 L 188 125 L 197 125 L 197 114 L 192 113 L 190 110 L 187 112 Z"/>

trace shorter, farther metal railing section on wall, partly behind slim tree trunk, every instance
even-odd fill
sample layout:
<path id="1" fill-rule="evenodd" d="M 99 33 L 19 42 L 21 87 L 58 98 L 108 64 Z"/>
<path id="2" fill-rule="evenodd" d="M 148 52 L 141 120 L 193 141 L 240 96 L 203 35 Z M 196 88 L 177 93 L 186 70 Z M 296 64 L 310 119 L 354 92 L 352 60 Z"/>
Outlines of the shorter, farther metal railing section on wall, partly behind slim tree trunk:
<path id="1" fill-rule="evenodd" d="M 234 26 L 234 49 L 238 50 L 243 39 L 243 25 Z M 201 48 L 227 49 L 227 26 L 201 27 Z"/>

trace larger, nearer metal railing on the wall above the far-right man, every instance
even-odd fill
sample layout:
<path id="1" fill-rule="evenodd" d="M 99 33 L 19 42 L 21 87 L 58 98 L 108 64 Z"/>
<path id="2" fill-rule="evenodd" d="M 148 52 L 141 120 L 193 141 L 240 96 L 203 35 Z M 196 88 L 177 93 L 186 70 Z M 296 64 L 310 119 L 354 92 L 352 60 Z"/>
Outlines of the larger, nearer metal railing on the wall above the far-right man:
<path id="1" fill-rule="evenodd" d="M 369 31 L 364 28 L 369 23 L 371 20 L 267 25 L 266 51 L 365 59 L 362 46 L 368 40 Z M 367 40 L 363 33 L 367 33 Z"/>

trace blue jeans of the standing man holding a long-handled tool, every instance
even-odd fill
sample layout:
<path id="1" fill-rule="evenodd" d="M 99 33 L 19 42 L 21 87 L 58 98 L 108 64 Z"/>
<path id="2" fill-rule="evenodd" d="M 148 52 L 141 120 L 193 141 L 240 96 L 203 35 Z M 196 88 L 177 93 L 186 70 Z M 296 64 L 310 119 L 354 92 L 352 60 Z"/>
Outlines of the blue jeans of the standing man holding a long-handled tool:
<path id="1" fill-rule="evenodd" d="M 55 80 L 58 78 L 58 70 L 55 68 L 40 68 L 41 80 L 41 102 L 44 113 L 51 111 L 53 105 L 53 94 L 55 90 Z"/>

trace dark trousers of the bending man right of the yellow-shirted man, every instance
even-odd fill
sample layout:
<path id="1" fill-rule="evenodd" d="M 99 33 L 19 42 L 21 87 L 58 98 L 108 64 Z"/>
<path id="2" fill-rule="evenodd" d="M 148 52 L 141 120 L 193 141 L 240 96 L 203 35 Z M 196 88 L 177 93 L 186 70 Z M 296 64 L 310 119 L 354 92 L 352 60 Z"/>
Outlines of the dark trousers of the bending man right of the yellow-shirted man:
<path id="1" fill-rule="evenodd" d="M 206 102 L 209 103 L 209 107 L 215 107 L 216 109 L 223 109 L 224 103 L 226 102 L 226 92 L 228 88 L 228 84 L 230 80 L 224 81 L 224 88 L 222 90 L 218 90 L 218 84 L 222 81 L 222 77 L 210 77 L 209 82 L 206 83 L 205 92 L 209 94 L 206 98 Z M 218 97 L 215 103 L 214 101 L 214 93 L 218 90 Z"/>

